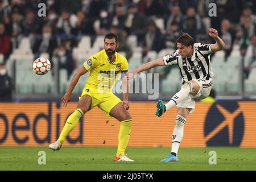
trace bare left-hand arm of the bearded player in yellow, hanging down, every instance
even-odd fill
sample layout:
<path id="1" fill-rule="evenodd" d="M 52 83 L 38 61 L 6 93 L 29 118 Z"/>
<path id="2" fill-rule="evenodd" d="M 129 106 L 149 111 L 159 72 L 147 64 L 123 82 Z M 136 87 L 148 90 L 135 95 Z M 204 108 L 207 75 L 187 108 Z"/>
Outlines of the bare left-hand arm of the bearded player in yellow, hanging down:
<path id="1" fill-rule="evenodd" d="M 70 82 L 70 85 L 68 87 L 67 92 L 64 94 L 64 96 L 61 98 L 62 100 L 62 106 L 67 107 L 68 102 L 71 100 L 71 93 L 73 89 L 75 88 L 77 82 L 79 81 L 79 78 L 84 75 L 86 72 L 88 72 L 84 65 L 82 65 L 79 70 L 75 73 L 75 75 L 72 77 L 72 80 Z"/>

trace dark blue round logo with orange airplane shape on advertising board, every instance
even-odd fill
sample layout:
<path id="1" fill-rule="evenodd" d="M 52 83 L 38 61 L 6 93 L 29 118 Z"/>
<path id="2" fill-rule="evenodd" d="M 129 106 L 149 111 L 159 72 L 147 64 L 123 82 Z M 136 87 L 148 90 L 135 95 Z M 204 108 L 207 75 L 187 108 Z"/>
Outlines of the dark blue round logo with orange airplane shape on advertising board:
<path id="1" fill-rule="evenodd" d="M 217 102 L 205 119 L 205 142 L 207 146 L 240 146 L 244 129 L 243 112 L 237 102 Z"/>

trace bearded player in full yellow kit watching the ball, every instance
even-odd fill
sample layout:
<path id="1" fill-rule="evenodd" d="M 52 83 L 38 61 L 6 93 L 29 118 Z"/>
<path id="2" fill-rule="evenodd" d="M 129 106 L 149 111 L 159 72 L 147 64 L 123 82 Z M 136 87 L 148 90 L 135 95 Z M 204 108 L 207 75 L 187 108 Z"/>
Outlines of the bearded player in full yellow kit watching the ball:
<path id="1" fill-rule="evenodd" d="M 62 106 L 67 106 L 71 100 L 72 90 L 75 88 L 79 78 L 90 72 L 88 80 L 82 90 L 77 109 L 68 117 L 59 139 L 49 144 L 53 151 L 60 150 L 62 143 L 68 134 L 76 126 L 79 119 L 90 109 L 98 106 L 108 117 L 114 117 L 120 122 L 118 134 L 118 148 L 115 155 L 115 162 L 134 162 L 125 155 L 125 150 L 130 139 L 131 115 L 129 109 L 128 94 L 129 82 L 125 77 L 128 71 L 128 63 L 125 57 L 116 52 L 119 46 L 117 35 L 110 33 L 104 38 L 102 51 L 90 56 L 79 68 L 71 80 L 71 84 L 64 94 Z M 123 101 L 112 93 L 116 78 L 121 73 L 123 85 Z"/>

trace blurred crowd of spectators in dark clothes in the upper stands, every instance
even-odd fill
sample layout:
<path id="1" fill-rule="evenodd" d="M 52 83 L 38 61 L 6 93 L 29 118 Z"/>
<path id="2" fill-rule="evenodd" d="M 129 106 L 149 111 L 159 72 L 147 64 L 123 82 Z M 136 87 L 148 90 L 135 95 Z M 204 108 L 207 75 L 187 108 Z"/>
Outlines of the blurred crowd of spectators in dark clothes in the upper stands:
<path id="1" fill-rule="evenodd" d="M 46 16 L 38 16 L 38 4 L 46 4 Z M 217 16 L 210 17 L 209 3 L 216 3 Z M 98 36 L 114 32 L 119 52 L 127 60 L 134 49 L 127 43 L 135 36 L 142 57 L 149 51 L 175 49 L 175 41 L 188 32 L 195 42 L 212 43 L 208 28 L 214 27 L 225 41 L 225 61 L 239 45 L 245 61 L 245 77 L 256 67 L 256 1 L 254 0 L 0 0 L 0 54 L 2 62 L 29 38 L 34 58 L 42 53 L 61 60 L 71 76 L 77 67 L 73 51 L 83 36 L 93 45 Z M 103 46 L 103 43 L 102 43 Z M 32 60 L 31 60 L 32 62 Z M 166 76 L 169 68 L 164 69 Z"/>

